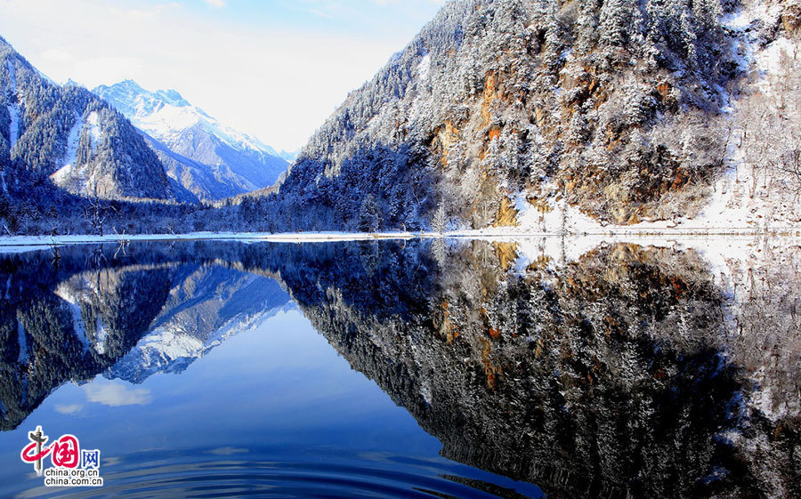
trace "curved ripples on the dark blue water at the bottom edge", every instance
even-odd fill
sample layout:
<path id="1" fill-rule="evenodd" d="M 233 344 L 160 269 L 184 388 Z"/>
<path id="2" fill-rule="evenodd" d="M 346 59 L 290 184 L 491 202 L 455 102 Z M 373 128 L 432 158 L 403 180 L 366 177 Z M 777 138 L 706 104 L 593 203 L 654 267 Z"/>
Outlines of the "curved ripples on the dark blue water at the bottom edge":
<path id="1" fill-rule="evenodd" d="M 444 458 L 223 447 L 116 459 L 104 487 L 36 487 L 20 498 L 541 497 L 537 487 Z M 492 480 L 492 481 L 489 481 Z"/>

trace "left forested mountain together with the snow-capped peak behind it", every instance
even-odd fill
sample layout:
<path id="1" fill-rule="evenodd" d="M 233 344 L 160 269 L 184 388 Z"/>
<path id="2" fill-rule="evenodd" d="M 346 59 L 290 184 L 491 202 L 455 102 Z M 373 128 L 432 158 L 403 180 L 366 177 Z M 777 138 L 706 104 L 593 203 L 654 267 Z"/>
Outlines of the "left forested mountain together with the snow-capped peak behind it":
<path id="1" fill-rule="evenodd" d="M 271 186 L 293 159 L 221 125 L 174 90 L 152 93 L 130 80 L 94 92 L 57 85 L 3 38 L 0 104 L 4 232 L 23 219 L 46 220 L 44 213 L 85 218 L 86 197 L 134 204 L 234 197 Z M 141 203 L 129 209 L 136 219 L 151 212 Z M 125 219 L 116 216 L 115 223 Z"/>

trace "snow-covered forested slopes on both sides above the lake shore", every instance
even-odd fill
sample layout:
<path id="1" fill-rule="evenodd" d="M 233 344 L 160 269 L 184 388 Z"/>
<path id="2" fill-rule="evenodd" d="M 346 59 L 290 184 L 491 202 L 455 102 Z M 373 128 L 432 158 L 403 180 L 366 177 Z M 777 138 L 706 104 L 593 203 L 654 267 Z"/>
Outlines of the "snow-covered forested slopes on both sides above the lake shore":
<path id="1" fill-rule="evenodd" d="M 0 230 L 795 226 L 799 27 L 797 0 L 450 2 L 276 185 L 213 205 L 2 43 Z"/>

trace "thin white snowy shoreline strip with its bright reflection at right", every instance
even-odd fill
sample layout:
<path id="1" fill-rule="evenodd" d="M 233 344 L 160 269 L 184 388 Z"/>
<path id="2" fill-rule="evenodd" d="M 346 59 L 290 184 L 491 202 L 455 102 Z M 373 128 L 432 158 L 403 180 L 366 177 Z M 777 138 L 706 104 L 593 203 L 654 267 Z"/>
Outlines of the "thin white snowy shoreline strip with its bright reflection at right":
<path id="1" fill-rule="evenodd" d="M 729 273 L 732 262 L 748 262 L 784 249 L 801 247 L 801 229 L 782 229 L 764 233 L 754 229 L 703 228 L 630 228 L 608 227 L 581 233 L 556 234 L 526 232 L 520 228 L 462 230 L 447 233 L 346 233 L 309 232 L 266 234 L 259 232 L 196 232 L 190 234 L 156 234 L 125 236 L 125 241 L 218 240 L 240 241 L 243 244 L 325 243 L 379 239 L 448 238 L 479 239 L 512 243 L 517 252 L 515 268 L 525 270 L 531 262 L 543 259 L 559 266 L 578 260 L 602 245 L 618 243 L 669 247 L 677 251 L 692 250 L 701 254 L 716 278 Z M 0 237 L 0 254 L 26 253 L 62 245 L 117 244 L 121 237 L 107 236 L 15 236 Z M 765 251 L 765 249 L 770 251 Z M 762 253 L 765 251 L 765 253 Z"/>

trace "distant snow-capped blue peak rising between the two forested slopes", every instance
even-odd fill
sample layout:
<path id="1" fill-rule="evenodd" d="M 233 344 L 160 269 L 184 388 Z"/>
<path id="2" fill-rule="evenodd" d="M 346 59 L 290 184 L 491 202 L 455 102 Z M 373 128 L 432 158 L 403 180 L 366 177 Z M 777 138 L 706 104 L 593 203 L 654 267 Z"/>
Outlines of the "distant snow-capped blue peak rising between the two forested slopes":
<path id="1" fill-rule="evenodd" d="M 167 174 L 205 200 L 271 186 L 294 157 L 234 130 L 174 90 L 150 92 L 133 80 L 93 90 L 158 144 Z"/>

